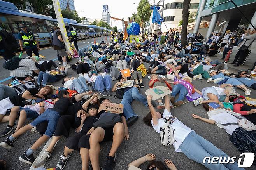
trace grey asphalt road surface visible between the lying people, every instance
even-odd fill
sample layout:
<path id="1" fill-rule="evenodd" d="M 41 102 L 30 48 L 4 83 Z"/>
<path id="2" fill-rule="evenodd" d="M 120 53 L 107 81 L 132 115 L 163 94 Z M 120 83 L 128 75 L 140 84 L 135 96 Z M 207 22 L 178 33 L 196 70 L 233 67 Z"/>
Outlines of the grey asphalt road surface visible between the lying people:
<path id="1" fill-rule="evenodd" d="M 96 38 L 96 42 L 99 42 L 101 37 Z M 109 40 L 109 37 L 107 38 Z M 104 37 L 105 40 L 105 37 Z M 88 43 L 89 42 L 89 43 Z M 79 41 L 78 45 L 79 48 L 85 47 L 87 45 L 91 45 L 93 43 L 93 39 Z M 53 48 L 48 48 L 44 50 L 40 50 L 40 54 L 46 56 L 46 59 L 55 59 L 56 58 L 56 51 Z M 213 57 L 213 59 L 218 59 L 220 56 Z M 73 59 L 70 64 L 75 63 L 77 59 Z M 0 60 L 0 64 L 2 64 L 3 59 Z M 146 67 L 149 64 L 144 63 Z M 229 70 L 231 72 L 235 72 L 237 70 Z M 4 79 L 9 76 L 9 71 L 2 69 L 2 74 L 0 75 L 0 79 Z M 75 71 L 69 71 L 70 77 L 78 76 Z M 4 82 L 7 83 L 8 81 Z M 148 88 L 149 79 L 145 76 L 143 78 L 144 88 L 140 89 L 140 93 L 145 95 L 145 91 Z M 112 82 L 114 85 L 116 81 Z M 61 86 L 61 81 L 53 83 L 53 85 Z M 193 81 L 193 85 L 198 90 L 201 90 L 205 87 L 209 86 L 217 86 L 215 83 L 207 83 L 205 80 L 195 80 Z M 244 94 L 244 92 L 240 89 L 236 89 L 239 94 Z M 255 90 L 252 90 L 251 97 L 255 98 L 256 93 Z M 112 96 L 109 97 L 112 102 L 121 102 L 121 99 L 115 99 L 114 93 Z M 129 134 L 130 139 L 128 141 L 123 141 L 119 149 L 116 153 L 116 165 L 115 170 L 127 170 L 128 163 L 132 162 L 133 160 L 145 156 L 148 153 L 154 153 L 156 155 L 156 160 L 163 161 L 165 158 L 172 160 L 172 162 L 176 165 L 177 169 L 180 170 L 204 170 L 207 169 L 203 165 L 196 163 L 195 161 L 190 160 L 187 158 L 183 153 L 175 152 L 173 146 L 163 146 L 160 142 L 160 135 L 154 131 L 153 128 L 148 127 L 142 121 L 143 117 L 149 113 L 149 109 L 145 108 L 145 106 L 138 101 L 133 101 L 132 108 L 134 109 L 135 113 L 139 115 L 139 120 L 135 122 L 132 127 L 129 127 Z M 163 110 L 162 110 L 163 111 Z M 216 147 L 223 150 L 228 156 L 236 156 L 237 158 L 240 156 L 240 152 L 236 149 L 236 147 L 230 142 L 229 137 L 224 129 L 217 127 L 217 125 L 210 125 L 208 123 L 202 122 L 200 120 L 195 120 L 191 117 L 191 114 L 195 113 L 199 116 L 204 118 L 207 117 L 206 111 L 203 109 L 203 106 L 193 107 L 193 103 L 189 102 L 183 104 L 181 106 L 175 107 L 171 109 L 171 112 L 174 116 L 176 116 L 182 123 L 187 125 L 192 130 L 208 141 L 212 142 Z M 16 120 L 17 123 L 18 120 Z M 30 121 L 26 121 L 26 124 L 30 123 Z M 1 123 L 0 129 L 1 132 L 5 129 L 7 123 Z M 70 136 L 75 134 L 75 130 L 70 130 Z M 14 149 L 4 149 L 0 147 L 0 159 L 4 159 L 7 161 L 7 166 L 9 170 L 28 170 L 30 169 L 31 165 L 26 163 L 22 163 L 19 161 L 19 156 L 23 154 L 23 152 L 28 149 L 32 144 L 40 137 L 39 133 L 32 134 L 31 132 L 26 132 L 25 134 L 21 135 L 15 142 L 14 142 Z M 0 137 L 0 141 L 4 141 L 6 137 Z M 59 142 L 56 144 L 56 147 L 51 154 L 50 159 L 44 165 L 45 168 L 53 168 L 56 166 L 60 159 L 60 155 L 63 153 L 65 142 L 67 139 L 62 137 Z M 112 141 L 104 142 L 101 144 L 100 150 L 100 165 L 102 167 L 105 166 L 106 157 L 110 151 L 112 145 Z M 42 145 L 39 149 L 35 151 L 34 156 L 37 156 L 45 146 Z M 146 163 L 144 163 L 140 168 L 146 169 Z M 70 156 L 65 170 L 79 170 L 82 168 L 81 157 L 78 151 L 74 151 Z M 247 168 L 250 170 L 256 169 L 255 166 Z"/>

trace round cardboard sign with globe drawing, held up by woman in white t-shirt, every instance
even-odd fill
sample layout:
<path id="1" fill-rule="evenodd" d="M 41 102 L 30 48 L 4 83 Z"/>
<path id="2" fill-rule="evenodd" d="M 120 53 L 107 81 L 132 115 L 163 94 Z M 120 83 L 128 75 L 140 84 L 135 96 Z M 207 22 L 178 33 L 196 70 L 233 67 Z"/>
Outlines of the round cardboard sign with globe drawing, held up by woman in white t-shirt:
<path id="1" fill-rule="evenodd" d="M 149 88 L 146 90 L 145 94 L 148 95 L 152 95 L 152 100 L 156 100 L 159 98 L 163 98 L 165 95 L 171 94 L 172 91 L 168 90 L 166 87 L 164 86 L 156 86 L 153 88 Z"/>

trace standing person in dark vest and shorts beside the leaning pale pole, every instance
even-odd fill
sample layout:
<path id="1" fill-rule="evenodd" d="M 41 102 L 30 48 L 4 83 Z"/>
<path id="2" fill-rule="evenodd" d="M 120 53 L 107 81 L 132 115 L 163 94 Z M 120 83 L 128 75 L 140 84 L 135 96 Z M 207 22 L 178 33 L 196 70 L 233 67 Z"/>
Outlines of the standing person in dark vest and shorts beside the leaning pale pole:
<path id="1" fill-rule="evenodd" d="M 63 66 L 69 66 L 67 65 L 67 52 L 65 50 L 65 45 L 62 39 L 62 33 L 60 31 L 60 28 L 54 27 L 53 29 L 53 49 L 57 50 L 58 55 L 62 57 Z"/>

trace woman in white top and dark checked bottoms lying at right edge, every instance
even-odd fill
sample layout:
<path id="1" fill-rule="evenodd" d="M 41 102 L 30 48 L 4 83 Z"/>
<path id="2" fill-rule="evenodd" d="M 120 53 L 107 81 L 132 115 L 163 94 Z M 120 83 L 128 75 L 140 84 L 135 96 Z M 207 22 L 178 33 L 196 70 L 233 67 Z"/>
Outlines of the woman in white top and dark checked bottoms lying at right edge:
<path id="1" fill-rule="evenodd" d="M 244 128 L 239 127 L 238 125 L 223 125 L 226 123 L 237 122 L 237 117 L 244 118 L 243 116 L 241 116 L 241 114 L 235 113 L 231 109 L 213 109 L 209 106 L 208 110 L 209 111 L 207 112 L 207 114 L 209 116 L 209 119 L 202 118 L 196 114 L 192 114 L 192 117 L 210 124 L 216 124 L 220 128 L 224 128 L 226 132 L 231 135 L 230 141 L 241 153 L 252 152 L 256 154 L 256 130 L 247 131 Z M 256 158 L 254 158 L 254 165 L 255 164 Z"/>

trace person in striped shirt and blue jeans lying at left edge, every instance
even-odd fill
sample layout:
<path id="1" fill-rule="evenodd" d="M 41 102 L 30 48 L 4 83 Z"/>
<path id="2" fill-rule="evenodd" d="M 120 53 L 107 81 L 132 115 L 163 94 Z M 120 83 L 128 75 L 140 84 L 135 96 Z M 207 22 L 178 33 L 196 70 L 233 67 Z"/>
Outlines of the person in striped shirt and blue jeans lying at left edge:
<path id="1" fill-rule="evenodd" d="M 35 87 L 35 83 L 33 83 L 30 80 L 33 80 L 33 82 L 35 82 L 35 78 L 33 76 L 26 75 L 25 80 L 18 80 L 20 83 L 19 85 L 11 87 L 8 85 L 0 84 L 0 100 L 5 99 L 7 97 L 16 96 L 18 94 L 25 92 L 28 88 Z"/>

